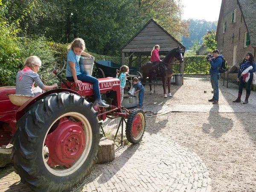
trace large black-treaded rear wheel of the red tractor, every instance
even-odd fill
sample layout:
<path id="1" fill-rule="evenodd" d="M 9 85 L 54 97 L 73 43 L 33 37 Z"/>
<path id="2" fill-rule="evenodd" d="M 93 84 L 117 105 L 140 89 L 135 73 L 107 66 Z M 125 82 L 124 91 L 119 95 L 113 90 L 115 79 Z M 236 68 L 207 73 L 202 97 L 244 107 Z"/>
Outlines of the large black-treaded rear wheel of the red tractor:
<path id="1" fill-rule="evenodd" d="M 12 154 L 21 181 L 35 191 L 70 191 L 96 162 L 100 123 L 83 97 L 53 93 L 17 121 Z"/>

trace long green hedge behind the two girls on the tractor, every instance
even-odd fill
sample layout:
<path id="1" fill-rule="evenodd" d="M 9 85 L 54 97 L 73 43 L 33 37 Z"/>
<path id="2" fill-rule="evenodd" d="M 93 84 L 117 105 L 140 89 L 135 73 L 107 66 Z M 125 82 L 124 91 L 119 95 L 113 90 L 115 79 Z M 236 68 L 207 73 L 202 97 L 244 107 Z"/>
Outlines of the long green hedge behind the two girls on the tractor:
<path id="1" fill-rule="evenodd" d="M 87 50 L 86 50 L 87 51 Z M 96 60 L 110 60 L 122 63 L 121 57 L 98 55 L 89 52 Z M 8 31 L 0 30 L 0 87 L 15 85 L 15 76 L 23 68 L 27 57 L 37 55 L 42 61 L 38 74 L 49 71 L 53 67 L 60 70 L 67 60 L 67 44 L 59 44 L 47 40 L 45 37 L 18 38 L 9 35 Z M 42 78 L 47 79 L 51 73 L 45 73 Z M 61 73 L 65 77 L 65 69 Z M 57 78 L 46 84 L 60 83 Z"/>

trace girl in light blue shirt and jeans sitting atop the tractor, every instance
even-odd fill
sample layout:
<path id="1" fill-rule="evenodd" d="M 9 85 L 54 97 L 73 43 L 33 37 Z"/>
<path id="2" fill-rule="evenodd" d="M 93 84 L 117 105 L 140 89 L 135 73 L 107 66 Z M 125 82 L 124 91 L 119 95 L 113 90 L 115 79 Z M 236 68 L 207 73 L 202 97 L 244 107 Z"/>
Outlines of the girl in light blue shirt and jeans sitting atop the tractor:
<path id="1" fill-rule="evenodd" d="M 99 92 L 99 81 L 93 76 L 88 75 L 87 73 L 81 73 L 79 66 L 79 59 L 81 55 L 87 57 L 93 57 L 87 52 L 84 52 L 85 43 L 81 38 L 76 38 L 68 47 L 67 52 L 67 68 L 66 68 L 66 78 L 68 81 L 74 81 L 77 87 L 82 85 L 82 81 L 87 81 L 93 84 L 93 93 L 96 99 L 96 105 L 99 107 L 108 108 L 109 105 L 101 99 Z"/>

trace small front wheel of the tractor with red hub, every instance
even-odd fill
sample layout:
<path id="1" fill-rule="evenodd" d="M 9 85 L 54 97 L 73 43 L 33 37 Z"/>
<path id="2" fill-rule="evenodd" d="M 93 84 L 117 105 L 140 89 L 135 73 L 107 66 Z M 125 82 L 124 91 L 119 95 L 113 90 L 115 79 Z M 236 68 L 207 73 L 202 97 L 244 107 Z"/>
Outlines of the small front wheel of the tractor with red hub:
<path id="1" fill-rule="evenodd" d="M 145 132 L 145 113 L 141 109 L 134 109 L 128 116 L 125 134 L 130 143 L 139 143 Z"/>

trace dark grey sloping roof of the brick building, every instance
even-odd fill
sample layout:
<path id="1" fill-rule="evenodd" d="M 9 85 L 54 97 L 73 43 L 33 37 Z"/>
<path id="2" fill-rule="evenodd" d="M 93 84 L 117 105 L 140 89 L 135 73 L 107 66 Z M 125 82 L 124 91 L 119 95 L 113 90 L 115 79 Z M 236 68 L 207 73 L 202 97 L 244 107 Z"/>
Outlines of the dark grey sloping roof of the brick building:
<path id="1" fill-rule="evenodd" d="M 256 0 L 238 0 L 245 25 L 250 36 L 250 42 L 256 47 Z"/>

